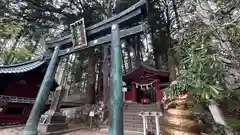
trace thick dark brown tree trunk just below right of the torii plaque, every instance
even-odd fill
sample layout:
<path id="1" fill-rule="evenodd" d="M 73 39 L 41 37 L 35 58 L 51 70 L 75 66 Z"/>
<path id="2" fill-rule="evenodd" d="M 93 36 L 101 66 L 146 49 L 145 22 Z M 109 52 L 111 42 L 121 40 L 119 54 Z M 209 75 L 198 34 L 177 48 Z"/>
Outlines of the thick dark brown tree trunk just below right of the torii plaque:
<path id="1" fill-rule="evenodd" d="M 95 83 L 96 83 L 96 72 L 95 72 L 95 57 L 94 57 L 94 49 L 89 50 L 88 57 L 88 75 L 87 75 L 87 103 L 95 104 L 96 96 L 95 96 Z"/>

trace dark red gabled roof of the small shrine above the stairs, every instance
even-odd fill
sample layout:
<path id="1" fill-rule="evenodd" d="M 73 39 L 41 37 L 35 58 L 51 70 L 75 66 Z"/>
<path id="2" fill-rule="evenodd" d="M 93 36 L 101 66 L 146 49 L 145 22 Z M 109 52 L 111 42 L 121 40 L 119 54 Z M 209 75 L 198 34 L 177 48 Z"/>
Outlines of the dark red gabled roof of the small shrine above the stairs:
<path id="1" fill-rule="evenodd" d="M 164 82 L 169 81 L 169 72 L 148 66 L 145 63 L 140 63 L 132 71 L 123 76 L 125 82 L 137 81 L 139 79 L 160 79 Z"/>

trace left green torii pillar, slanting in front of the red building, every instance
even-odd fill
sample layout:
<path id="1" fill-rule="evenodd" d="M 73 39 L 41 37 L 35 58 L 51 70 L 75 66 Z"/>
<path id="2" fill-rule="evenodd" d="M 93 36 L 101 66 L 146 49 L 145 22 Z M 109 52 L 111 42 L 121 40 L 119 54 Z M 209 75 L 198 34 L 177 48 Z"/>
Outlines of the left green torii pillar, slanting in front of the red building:
<path id="1" fill-rule="evenodd" d="M 37 127 L 41 117 L 41 112 L 48 99 L 50 88 L 53 84 L 55 73 L 58 67 L 58 62 L 59 62 L 58 53 L 59 53 L 60 47 L 61 46 L 55 47 L 54 53 L 50 60 L 45 76 L 43 78 L 34 106 L 28 117 L 26 126 L 24 130 L 20 132 L 20 135 L 37 135 L 38 134 Z"/>

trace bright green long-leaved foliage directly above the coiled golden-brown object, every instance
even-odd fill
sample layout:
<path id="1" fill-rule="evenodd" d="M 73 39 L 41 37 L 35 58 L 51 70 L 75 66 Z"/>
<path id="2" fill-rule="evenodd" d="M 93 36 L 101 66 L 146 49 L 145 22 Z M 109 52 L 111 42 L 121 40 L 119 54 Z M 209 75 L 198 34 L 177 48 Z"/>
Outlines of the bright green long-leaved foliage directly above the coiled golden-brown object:
<path id="1" fill-rule="evenodd" d="M 226 64 L 212 42 L 213 30 L 205 26 L 202 30 L 189 27 L 186 31 L 181 46 L 175 48 L 181 55 L 181 69 L 176 84 L 170 87 L 171 96 L 181 90 L 193 92 L 198 101 L 228 96 L 221 85 Z"/>

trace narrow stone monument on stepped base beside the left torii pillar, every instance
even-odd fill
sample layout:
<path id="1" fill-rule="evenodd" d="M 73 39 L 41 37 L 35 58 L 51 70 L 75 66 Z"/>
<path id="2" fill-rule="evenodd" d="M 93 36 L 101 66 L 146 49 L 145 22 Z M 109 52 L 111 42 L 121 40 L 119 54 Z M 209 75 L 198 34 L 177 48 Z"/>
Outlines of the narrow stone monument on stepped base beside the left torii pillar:
<path id="1" fill-rule="evenodd" d="M 68 128 L 66 116 L 60 112 L 60 103 L 64 96 L 64 90 L 59 86 L 54 92 L 50 109 L 41 116 L 38 130 L 41 134 L 61 131 Z"/>

